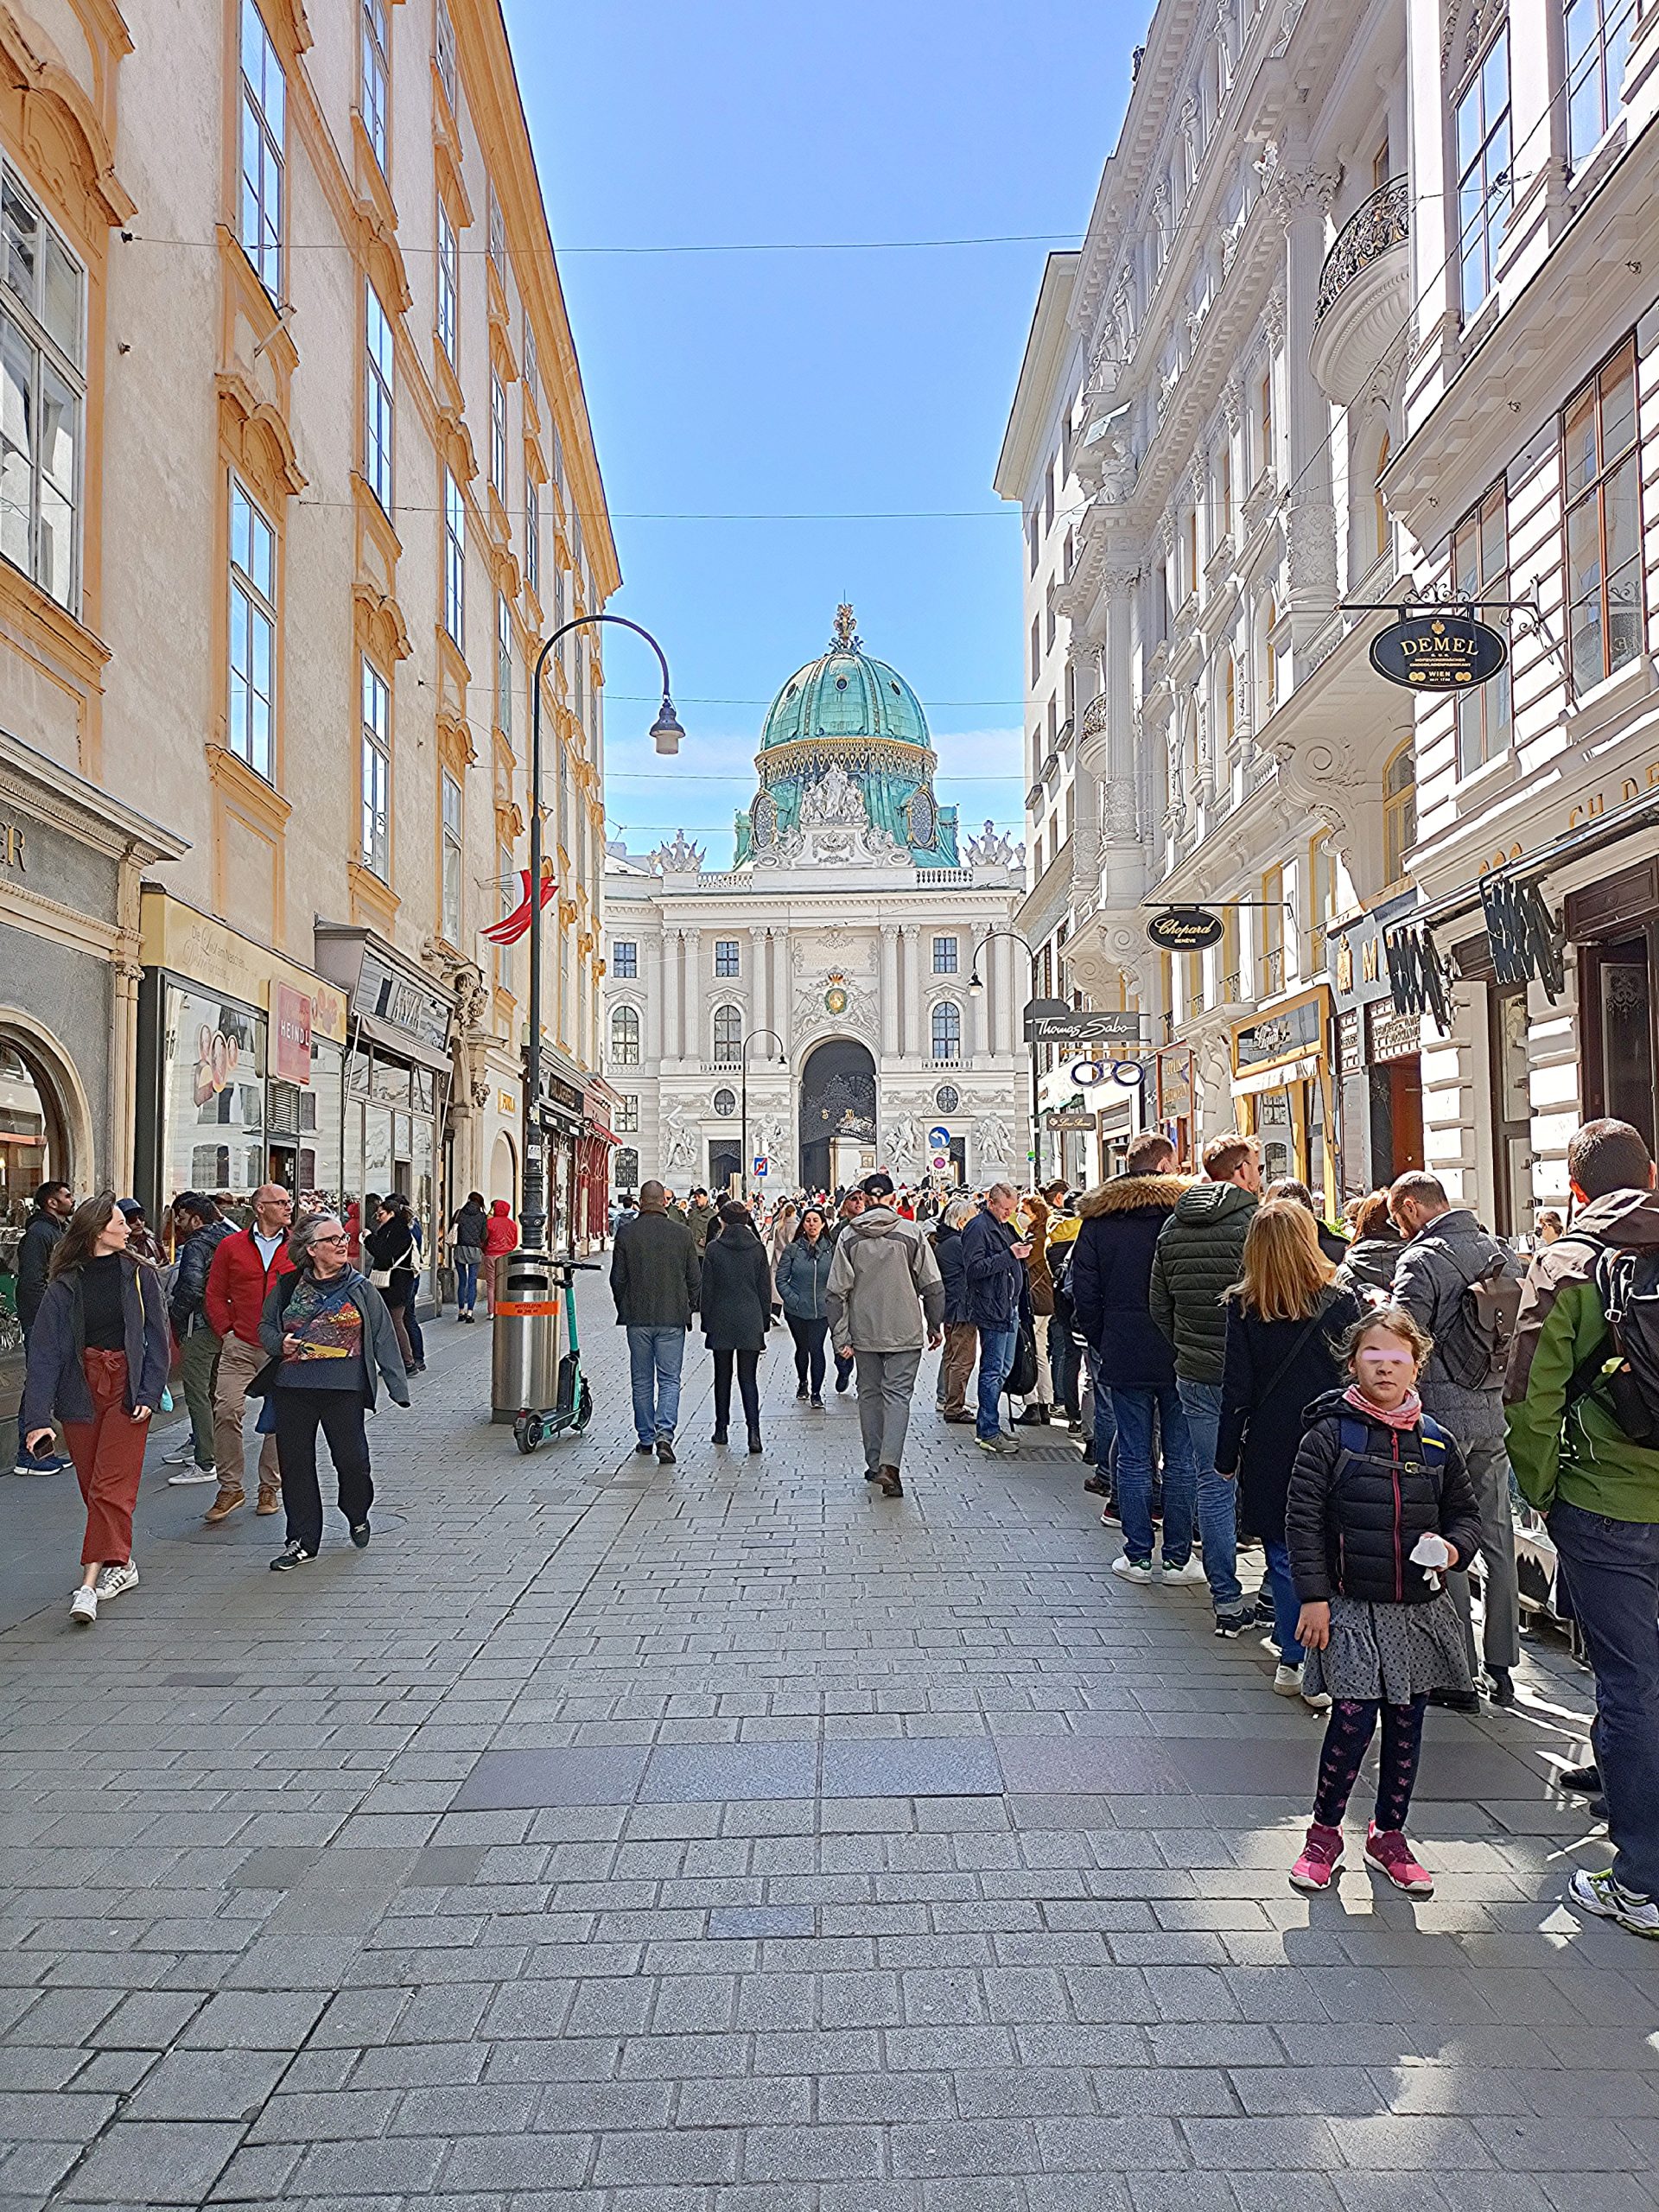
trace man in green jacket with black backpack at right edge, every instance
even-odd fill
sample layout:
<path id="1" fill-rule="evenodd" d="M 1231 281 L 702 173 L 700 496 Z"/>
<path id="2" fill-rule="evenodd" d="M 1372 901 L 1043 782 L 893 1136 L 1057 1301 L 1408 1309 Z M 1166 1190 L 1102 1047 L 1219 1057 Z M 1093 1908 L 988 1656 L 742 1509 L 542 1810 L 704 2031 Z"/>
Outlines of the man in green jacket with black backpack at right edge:
<path id="1" fill-rule="evenodd" d="M 1568 1902 L 1659 1938 L 1659 1197 L 1628 1121 L 1566 1146 L 1573 1225 L 1533 1254 L 1504 1378 L 1509 1455 L 1548 1515 L 1595 1668 L 1595 1770 L 1615 1863 Z"/>

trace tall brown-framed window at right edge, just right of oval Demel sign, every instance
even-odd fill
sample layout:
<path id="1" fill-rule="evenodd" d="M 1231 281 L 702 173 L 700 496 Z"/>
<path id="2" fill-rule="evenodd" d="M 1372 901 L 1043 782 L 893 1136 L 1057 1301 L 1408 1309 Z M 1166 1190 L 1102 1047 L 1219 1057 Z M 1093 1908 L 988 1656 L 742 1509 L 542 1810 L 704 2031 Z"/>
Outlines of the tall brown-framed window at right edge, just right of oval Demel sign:
<path id="1" fill-rule="evenodd" d="M 1584 692 L 1641 650 L 1641 456 L 1632 338 L 1568 400 L 1562 460 L 1573 686 Z"/>

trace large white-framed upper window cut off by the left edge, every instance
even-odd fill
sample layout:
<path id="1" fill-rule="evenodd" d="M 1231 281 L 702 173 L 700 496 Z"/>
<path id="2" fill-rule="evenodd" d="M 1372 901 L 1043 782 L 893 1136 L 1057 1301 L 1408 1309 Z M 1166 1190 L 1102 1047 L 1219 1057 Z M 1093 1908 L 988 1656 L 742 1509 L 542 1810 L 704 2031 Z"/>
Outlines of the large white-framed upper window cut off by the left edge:
<path id="1" fill-rule="evenodd" d="M 0 166 L 0 553 L 60 606 L 80 602 L 82 270 Z"/>

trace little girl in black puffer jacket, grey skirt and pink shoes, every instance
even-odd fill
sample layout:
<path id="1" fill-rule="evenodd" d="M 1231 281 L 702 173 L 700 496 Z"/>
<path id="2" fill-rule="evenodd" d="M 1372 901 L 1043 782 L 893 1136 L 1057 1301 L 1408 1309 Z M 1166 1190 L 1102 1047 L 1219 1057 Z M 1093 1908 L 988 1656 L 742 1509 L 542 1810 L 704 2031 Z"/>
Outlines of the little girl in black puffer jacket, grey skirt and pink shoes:
<path id="1" fill-rule="evenodd" d="M 1365 1858 L 1396 1889 L 1433 1893 L 1405 1816 L 1429 1690 L 1469 1688 L 1444 1575 L 1478 1551 L 1480 1511 L 1455 1440 L 1418 1398 L 1429 1349 L 1402 1307 L 1367 1312 L 1338 1347 L 1352 1383 L 1307 1409 L 1290 1475 L 1285 1544 L 1303 1608 L 1305 1690 L 1332 1697 L 1314 1823 L 1290 1874 L 1296 1889 L 1329 1889 L 1343 1871 L 1343 1814 L 1380 1712 Z"/>

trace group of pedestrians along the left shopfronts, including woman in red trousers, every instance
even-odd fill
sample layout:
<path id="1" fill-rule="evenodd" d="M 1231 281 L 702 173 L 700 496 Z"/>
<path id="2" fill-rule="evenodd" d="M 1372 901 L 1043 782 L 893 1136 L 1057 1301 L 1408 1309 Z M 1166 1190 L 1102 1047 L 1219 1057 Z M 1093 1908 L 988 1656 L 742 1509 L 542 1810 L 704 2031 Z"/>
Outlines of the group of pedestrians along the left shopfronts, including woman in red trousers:
<path id="1" fill-rule="evenodd" d="M 69 1183 L 40 1186 L 18 1243 L 24 1389 L 13 1467 L 18 1475 L 75 1469 L 86 1531 L 71 1621 L 91 1626 L 100 1604 L 137 1586 L 133 1509 L 150 1422 L 173 1411 L 175 1376 L 188 1420 L 164 1455 L 168 1484 L 212 1484 L 210 1528 L 248 1504 L 252 1413 L 254 1513 L 285 1513 L 272 1571 L 305 1566 L 321 1548 L 319 1433 L 352 1544 L 367 1546 L 365 1413 L 380 1383 L 409 1405 L 409 1376 L 427 1365 L 416 1310 L 422 1243 L 403 1192 L 369 1194 L 343 1214 L 312 1203 L 296 1219 L 281 1183 L 263 1183 L 246 1203 L 184 1190 L 153 1230 L 137 1199 L 102 1192 L 77 1206 Z M 471 1192 L 449 1230 L 460 1323 L 476 1318 L 480 1281 L 489 1312 L 491 1263 L 515 1245 L 507 1201 L 487 1208 Z"/>

